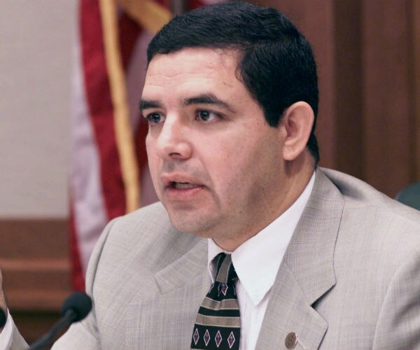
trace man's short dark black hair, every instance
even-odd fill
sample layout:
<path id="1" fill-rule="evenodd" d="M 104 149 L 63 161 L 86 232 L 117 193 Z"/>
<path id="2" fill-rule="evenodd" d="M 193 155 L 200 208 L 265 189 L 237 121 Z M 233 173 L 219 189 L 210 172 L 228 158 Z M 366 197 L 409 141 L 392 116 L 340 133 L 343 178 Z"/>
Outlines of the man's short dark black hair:
<path id="1" fill-rule="evenodd" d="M 240 52 L 239 76 L 272 127 L 279 125 L 288 106 L 307 102 L 315 114 L 307 147 L 318 162 L 314 54 L 309 41 L 286 15 L 274 8 L 236 1 L 198 8 L 176 16 L 155 35 L 148 45 L 148 63 L 157 54 L 193 47 Z"/>

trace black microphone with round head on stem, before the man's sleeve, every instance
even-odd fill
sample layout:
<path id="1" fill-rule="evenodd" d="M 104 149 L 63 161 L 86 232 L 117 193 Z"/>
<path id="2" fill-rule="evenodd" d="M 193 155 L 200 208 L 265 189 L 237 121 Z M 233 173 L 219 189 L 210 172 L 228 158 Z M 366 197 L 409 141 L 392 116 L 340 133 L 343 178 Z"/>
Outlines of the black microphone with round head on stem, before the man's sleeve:
<path id="1" fill-rule="evenodd" d="M 91 309 L 92 300 L 86 293 L 76 292 L 69 295 L 63 302 L 62 318 L 52 326 L 48 333 L 39 338 L 34 344 L 31 344 L 29 350 L 38 350 L 50 345 L 60 330 L 71 325 L 73 322 L 83 320 Z"/>

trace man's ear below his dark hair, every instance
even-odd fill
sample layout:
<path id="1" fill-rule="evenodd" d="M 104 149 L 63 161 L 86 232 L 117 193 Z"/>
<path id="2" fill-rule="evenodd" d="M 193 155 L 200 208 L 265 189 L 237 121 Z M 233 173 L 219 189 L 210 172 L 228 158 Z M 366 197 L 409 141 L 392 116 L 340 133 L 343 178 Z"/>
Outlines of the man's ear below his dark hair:
<path id="1" fill-rule="evenodd" d="M 314 111 L 307 102 L 295 102 L 283 113 L 281 125 L 286 136 L 283 139 L 283 159 L 295 160 L 306 148 L 312 125 Z"/>

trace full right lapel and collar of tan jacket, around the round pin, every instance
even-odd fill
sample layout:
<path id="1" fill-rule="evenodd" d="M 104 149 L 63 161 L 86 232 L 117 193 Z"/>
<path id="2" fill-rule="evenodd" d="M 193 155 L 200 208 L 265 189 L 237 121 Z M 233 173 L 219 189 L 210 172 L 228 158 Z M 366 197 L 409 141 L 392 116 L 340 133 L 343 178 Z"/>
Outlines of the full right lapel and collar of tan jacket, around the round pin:
<path id="1" fill-rule="evenodd" d="M 318 349 L 328 323 L 314 303 L 335 285 L 334 249 L 344 199 L 321 170 L 293 233 L 272 287 L 257 350 L 287 349 L 286 337 L 297 335 L 295 349 Z"/>

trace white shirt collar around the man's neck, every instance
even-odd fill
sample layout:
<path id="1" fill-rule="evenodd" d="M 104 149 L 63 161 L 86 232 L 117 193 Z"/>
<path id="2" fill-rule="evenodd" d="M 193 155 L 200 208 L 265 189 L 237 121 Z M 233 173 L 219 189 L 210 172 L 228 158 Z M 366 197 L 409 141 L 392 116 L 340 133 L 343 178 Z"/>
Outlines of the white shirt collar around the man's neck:
<path id="1" fill-rule="evenodd" d="M 293 231 L 311 195 L 314 181 L 315 173 L 312 174 L 306 188 L 291 207 L 231 253 L 239 281 L 255 305 L 273 286 Z M 208 266 L 212 281 L 216 273 L 212 261 L 218 253 L 222 252 L 223 249 L 213 239 L 209 239 Z M 225 251 L 225 253 L 230 252 Z"/>

